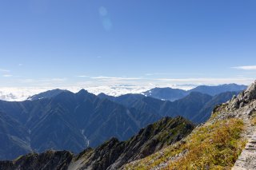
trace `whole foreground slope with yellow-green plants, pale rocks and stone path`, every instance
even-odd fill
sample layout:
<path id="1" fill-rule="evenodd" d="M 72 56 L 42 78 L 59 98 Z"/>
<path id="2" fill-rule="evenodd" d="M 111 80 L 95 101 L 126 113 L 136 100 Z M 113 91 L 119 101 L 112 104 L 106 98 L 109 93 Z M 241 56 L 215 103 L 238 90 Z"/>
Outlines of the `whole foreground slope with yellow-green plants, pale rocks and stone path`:
<path id="1" fill-rule="evenodd" d="M 256 169 L 256 81 L 181 142 L 124 169 Z"/>

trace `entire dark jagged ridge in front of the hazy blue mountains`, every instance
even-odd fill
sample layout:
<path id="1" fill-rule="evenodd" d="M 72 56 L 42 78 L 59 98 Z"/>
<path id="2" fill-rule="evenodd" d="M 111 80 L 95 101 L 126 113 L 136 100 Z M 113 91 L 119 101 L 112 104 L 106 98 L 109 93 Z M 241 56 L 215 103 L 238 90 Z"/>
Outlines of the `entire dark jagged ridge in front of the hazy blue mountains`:
<path id="1" fill-rule="evenodd" d="M 182 140 L 193 129 L 194 125 L 182 117 L 165 117 L 142 128 L 130 140 L 120 142 L 112 138 L 98 148 L 84 150 L 78 156 L 66 151 L 33 153 L 14 161 L 0 161 L 0 169 L 118 169 L 123 164 L 149 156 Z"/>

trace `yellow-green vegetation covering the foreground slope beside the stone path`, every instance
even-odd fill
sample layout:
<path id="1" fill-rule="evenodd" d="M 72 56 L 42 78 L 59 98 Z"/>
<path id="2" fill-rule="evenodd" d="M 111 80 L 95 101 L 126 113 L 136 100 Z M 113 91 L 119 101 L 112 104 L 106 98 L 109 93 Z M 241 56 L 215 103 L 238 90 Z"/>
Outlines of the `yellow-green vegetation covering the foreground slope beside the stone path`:
<path id="1" fill-rule="evenodd" d="M 246 144 L 243 122 L 231 118 L 198 127 L 185 141 L 126 165 L 126 169 L 230 169 Z"/>

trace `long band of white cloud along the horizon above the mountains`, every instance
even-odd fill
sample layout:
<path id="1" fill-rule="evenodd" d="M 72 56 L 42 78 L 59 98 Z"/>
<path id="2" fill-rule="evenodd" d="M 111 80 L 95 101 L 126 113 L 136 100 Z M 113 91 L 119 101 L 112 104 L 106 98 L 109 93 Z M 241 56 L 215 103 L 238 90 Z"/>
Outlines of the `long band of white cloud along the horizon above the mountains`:
<path id="1" fill-rule="evenodd" d="M 229 83 L 250 85 L 252 82 L 254 82 L 254 78 L 252 77 L 168 78 L 166 76 L 166 78 L 146 78 L 98 76 L 89 78 L 90 79 L 79 79 L 81 81 L 68 81 L 68 79 L 65 77 L 45 79 L 18 79 L 15 81 L 17 83 L 14 84 L 17 86 L 12 88 L 4 88 L 3 85 L 0 85 L 0 93 L 2 92 L 2 94 L 5 95 L 5 100 L 22 101 L 27 97 L 34 95 L 35 93 L 41 93 L 46 90 L 57 88 L 68 89 L 74 93 L 78 92 L 80 89 L 86 89 L 90 93 L 94 94 L 106 93 L 112 96 L 119 96 L 126 93 L 142 93 L 148 89 L 153 89 L 154 87 L 170 87 L 174 89 L 187 90 L 192 89 L 198 85 L 222 85 Z M 18 85 L 20 85 L 20 87 Z M 10 93 L 12 93 L 14 97 L 10 95 Z M 9 99 L 7 99 L 8 97 Z"/>

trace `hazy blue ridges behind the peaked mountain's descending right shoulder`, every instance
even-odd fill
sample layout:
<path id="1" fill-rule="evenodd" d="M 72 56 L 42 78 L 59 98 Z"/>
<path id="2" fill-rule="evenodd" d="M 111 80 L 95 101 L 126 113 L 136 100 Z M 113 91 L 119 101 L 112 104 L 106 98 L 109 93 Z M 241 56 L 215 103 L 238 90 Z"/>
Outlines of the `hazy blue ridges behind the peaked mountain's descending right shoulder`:
<path id="1" fill-rule="evenodd" d="M 130 101 L 130 96 L 133 94 L 126 94 L 120 97 L 110 97 L 100 94 L 99 97 L 108 98 L 121 105 L 126 105 L 130 109 L 142 110 L 145 113 L 154 113 L 161 117 L 182 116 L 198 124 L 207 121 L 214 106 L 229 101 L 237 94 L 238 92 L 226 92 L 212 97 L 208 94 L 191 92 L 186 97 L 173 102 L 161 101 L 152 97 L 140 97 L 137 94 L 135 94 L 136 97 L 134 97 L 133 102 Z M 119 101 L 120 98 L 122 100 Z"/>

